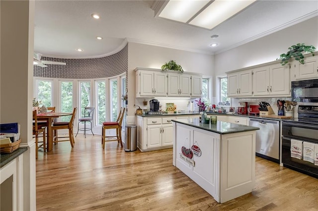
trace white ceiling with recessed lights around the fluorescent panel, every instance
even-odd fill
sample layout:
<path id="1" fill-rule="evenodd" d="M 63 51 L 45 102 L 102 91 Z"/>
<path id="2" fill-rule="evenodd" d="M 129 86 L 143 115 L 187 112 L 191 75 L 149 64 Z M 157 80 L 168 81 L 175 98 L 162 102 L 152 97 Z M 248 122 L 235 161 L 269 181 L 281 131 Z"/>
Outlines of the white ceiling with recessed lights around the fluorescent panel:
<path id="1" fill-rule="evenodd" d="M 257 0 L 207 30 L 154 17 L 154 2 L 36 0 L 34 51 L 57 57 L 97 57 L 117 52 L 128 41 L 216 54 L 318 15 L 318 0 Z M 100 19 L 91 18 L 92 13 Z M 212 39 L 214 34 L 219 38 Z M 211 48 L 212 43 L 218 46 Z"/>

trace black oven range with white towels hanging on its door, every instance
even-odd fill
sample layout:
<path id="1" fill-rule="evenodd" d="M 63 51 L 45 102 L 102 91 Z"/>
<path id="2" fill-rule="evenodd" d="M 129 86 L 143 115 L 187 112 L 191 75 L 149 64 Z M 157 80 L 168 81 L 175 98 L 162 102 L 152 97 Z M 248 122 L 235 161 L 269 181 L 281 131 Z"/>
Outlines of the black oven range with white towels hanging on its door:
<path id="1" fill-rule="evenodd" d="M 292 157 L 292 149 L 295 146 L 291 146 L 291 140 L 296 140 L 301 144 L 304 150 L 304 143 L 315 144 L 318 147 L 318 118 L 317 114 L 318 106 L 299 106 L 299 117 L 292 120 L 283 120 L 282 122 L 282 163 L 284 166 L 294 169 L 296 171 L 311 175 L 318 178 L 318 165 L 315 165 L 315 161 L 310 162 L 299 158 Z M 304 117 L 306 116 L 306 117 Z M 308 117 L 309 116 L 309 117 Z M 314 146 L 314 148 L 315 148 Z M 318 158 L 318 154 L 314 149 L 314 157 Z M 316 163 L 317 164 L 317 163 Z"/>

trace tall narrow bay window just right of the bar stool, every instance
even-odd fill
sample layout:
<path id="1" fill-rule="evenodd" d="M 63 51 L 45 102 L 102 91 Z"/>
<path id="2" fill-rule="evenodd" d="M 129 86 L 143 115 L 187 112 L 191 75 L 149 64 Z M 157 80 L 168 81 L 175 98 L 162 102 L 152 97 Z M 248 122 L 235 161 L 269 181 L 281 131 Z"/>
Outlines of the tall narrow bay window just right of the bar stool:
<path id="1" fill-rule="evenodd" d="M 106 83 L 105 81 L 96 81 L 96 119 L 97 125 L 106 121 Z"/>

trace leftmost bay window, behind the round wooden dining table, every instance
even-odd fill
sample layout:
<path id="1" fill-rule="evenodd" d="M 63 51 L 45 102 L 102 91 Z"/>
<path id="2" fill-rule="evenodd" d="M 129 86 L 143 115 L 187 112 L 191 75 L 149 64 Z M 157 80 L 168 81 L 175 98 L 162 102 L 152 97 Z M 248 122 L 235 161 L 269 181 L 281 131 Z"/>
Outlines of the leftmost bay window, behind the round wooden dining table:
<path id="1" fill-rule="evenodd" d="M 37 100 L 46 107 L 52 106 L 52 81 L 37 80 Z"/>

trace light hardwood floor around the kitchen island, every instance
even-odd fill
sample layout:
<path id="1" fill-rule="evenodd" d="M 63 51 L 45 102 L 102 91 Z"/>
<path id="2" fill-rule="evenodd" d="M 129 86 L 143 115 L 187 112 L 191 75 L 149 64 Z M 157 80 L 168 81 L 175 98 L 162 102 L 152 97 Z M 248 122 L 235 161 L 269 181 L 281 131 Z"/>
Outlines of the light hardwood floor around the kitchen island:
<path id="1" fill-rule="evenodd" d="M 57 211 L 317 211 L 318 179 L 256 157 L 250 194 L 224 204 L 172 165 L 172 149 L 125 152 L 117 142 L 79 134 L 39 151 L 37 210 Z"/>

